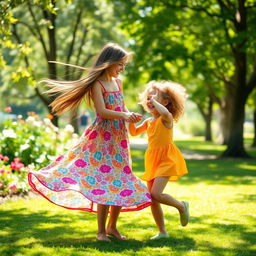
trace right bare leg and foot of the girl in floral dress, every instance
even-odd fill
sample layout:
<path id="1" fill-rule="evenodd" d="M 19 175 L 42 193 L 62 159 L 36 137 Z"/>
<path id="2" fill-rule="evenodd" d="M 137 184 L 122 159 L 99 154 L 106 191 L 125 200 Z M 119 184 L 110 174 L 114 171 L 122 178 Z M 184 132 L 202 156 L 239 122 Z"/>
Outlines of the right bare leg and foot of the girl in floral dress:
<path id="1" fill-rule="evenodd" d="M 107 226 L 107 234 L 112 235 L 119 240 L 127 240 L 127 238 L 125 236 L 122 236 L 116 228 L 116 223 L 117 223 L 117 219 L 120 214 L 121 208 L 122 207 L 120 206 L 111 206 L 110 217 L 109 217 L 108 226 Z"/>

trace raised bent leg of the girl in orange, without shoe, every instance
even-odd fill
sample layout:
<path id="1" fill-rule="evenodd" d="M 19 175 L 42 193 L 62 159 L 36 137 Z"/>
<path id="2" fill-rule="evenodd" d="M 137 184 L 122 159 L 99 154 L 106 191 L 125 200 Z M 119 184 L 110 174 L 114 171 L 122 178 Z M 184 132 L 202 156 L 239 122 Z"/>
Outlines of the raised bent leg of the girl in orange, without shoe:
<path id="1" fill-rule="evenodd" d="M 181 201 L 176 200 L 168 194 L 163 194 L 163 190 L 169 180 L 169 177 L 157 177 L 154 179 L 154 183 L 151 189 L 151 195 L 154 200 L 161 204 L 175 207 L 180 213 L 185 211 L 184 204 Z"/>

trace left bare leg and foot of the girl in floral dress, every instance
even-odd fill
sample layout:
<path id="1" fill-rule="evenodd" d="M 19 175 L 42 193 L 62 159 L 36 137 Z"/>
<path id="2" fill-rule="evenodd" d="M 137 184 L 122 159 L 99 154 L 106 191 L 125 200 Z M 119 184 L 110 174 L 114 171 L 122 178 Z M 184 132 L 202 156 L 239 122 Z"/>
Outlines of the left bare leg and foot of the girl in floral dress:
<path id="1" fill-rule="evenodd" d="M 107 237 L 106 234 L 106 220 L 108 217 L 108 205 L 98 204 L 98 235 L 97 240 L 111 242 L 111 240 Z"/>

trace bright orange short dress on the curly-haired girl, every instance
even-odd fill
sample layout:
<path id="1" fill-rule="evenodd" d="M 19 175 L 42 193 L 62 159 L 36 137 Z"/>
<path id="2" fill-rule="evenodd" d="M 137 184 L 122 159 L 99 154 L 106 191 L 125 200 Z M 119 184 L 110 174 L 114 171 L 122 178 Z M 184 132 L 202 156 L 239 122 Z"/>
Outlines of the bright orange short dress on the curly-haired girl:
<path id="1" fill-rule="evenodd" d="M 188 173 L 186 162 L 173 143 L 173 129 L 166 128 L 161 117 L 153 122 L 144 122 L 140 128 L 130 126 L 131 135 L 144 131 L 148 134 L 148 148 L 145 153 L 145 173 L 141 177 L 143 180 L 169 177 L 169 181 L 177 181 Z"/>

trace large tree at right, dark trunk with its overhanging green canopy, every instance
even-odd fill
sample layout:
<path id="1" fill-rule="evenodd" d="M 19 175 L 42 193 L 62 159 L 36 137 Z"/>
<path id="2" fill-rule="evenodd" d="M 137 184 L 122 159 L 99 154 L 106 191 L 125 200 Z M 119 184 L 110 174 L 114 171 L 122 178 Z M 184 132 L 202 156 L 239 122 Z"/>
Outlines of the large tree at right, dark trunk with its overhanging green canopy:
<path id="1" fill-rule="evenodd" d="M 135 38 L 137 60 L 145 61 L 151 77 L 157 73 L 171 78 L 172 64 L 184 71 L 189 60 L 198 73 L 207 69 L 214 74 L 217 85 L 223 87 L 219 103 L 226 110 L 227 149 L 223 156 L 248 157 L 243 123 L 245 103 L 256 87 L 253 1 L 126 1 L 125 7 L 115 2 L 123 13 L 123 28 Z M 196 66 L 195 57 L 205 60 L 207 66 Z M 177 78 L 179 75 L 176 73 Z M 217 99 L 216 95 L 212 98 Z"/>

